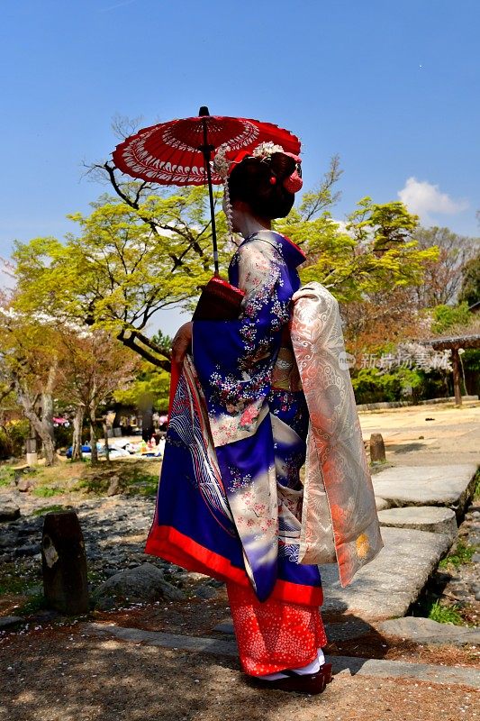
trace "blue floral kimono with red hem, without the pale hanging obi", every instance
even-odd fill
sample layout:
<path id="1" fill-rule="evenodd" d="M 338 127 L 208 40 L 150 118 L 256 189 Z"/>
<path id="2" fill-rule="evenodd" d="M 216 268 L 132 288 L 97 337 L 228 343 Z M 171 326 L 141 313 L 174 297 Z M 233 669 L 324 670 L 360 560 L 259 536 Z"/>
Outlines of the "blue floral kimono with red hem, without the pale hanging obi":
<path id="1" fill-rule="evenodd" d="M 303 260 L 283 235 L 255 233 L 229 269 L 240 319 L 194 322 L 145 551 L 251 584 L 260 601 L 318 607 L 318 567 L 298 562 L 309 415 L 288 333 Z"/>

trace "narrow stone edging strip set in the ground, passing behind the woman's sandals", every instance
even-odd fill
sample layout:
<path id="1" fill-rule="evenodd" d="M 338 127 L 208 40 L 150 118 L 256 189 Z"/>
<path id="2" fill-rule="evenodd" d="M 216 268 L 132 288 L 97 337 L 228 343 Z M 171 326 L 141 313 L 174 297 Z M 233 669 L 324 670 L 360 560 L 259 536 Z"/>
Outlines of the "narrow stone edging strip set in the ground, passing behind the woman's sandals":
<path id="1" fill-rule="evenodd" d="M 109 624 L 82 624 L 82 629 L 95 634 L 113 635 L 132 643 L 147 643 L 181 651 L 212 653 L 213 655 L 237 656 L 237 644 L 213 638 L 165 634 L 159 631 L 142 631 L 139 628 L 123 628 Z M 432 663 L 410 663 L 363 659 L 354 656 L 325 656 L 331 663 L 333 673 L 351 676 L 374 676 L 383 679 L 415 679 L 430 683 L 463 684 L 480 689 L 480 671 L 458 666 L 437 666 Z"/>

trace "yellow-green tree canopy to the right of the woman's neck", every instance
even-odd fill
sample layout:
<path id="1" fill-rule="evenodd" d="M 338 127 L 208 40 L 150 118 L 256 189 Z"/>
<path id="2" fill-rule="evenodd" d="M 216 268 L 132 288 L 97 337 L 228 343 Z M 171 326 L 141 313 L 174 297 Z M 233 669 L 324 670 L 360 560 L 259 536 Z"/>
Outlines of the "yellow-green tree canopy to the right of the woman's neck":
<path id="1" fill-rule="evenodd" d="M 379 205 L 365 197 L 344 230 L 332 220 L 327 203 L 328 192 L 321 187 L 303 196 L 298 210 L 277 224 L 307 256 L 303 282 L 318 280 L 344 302 L 421 282 L 425 262 L 438 251 L 418 247 L 418 217 L 403 203 Z"/>

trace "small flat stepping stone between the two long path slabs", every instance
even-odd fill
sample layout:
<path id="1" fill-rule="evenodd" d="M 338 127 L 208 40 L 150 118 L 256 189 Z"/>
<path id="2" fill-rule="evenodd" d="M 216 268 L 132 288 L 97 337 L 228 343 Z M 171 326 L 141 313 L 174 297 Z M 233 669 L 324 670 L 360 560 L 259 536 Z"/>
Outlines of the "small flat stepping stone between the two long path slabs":
<path id="1" fill-rule="evenodd" d="M 413 528 L 431 534 L 446 534 L 451 543 L 458 534 L 457 517 L 451 508 L 436 506 L 407 506 L 388 508 L 378 512 L 380 525 Z"/>

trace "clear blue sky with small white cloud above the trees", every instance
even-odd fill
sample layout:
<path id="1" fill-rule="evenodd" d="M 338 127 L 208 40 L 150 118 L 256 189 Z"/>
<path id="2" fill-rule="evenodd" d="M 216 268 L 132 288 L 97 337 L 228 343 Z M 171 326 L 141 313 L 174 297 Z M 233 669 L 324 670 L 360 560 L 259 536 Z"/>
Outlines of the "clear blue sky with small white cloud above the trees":
<path id="1" fill-rule="evenodd" d="M 305 187 L 334 153 L 339 219 L 400 197 L 426 224 L 479 235 L 477 0 L 15 0 L 0 24 L 0 255 L 61 237 L 103 188 L 82 161 L 114 114 L 278 123 L 303 141 Z"/>

